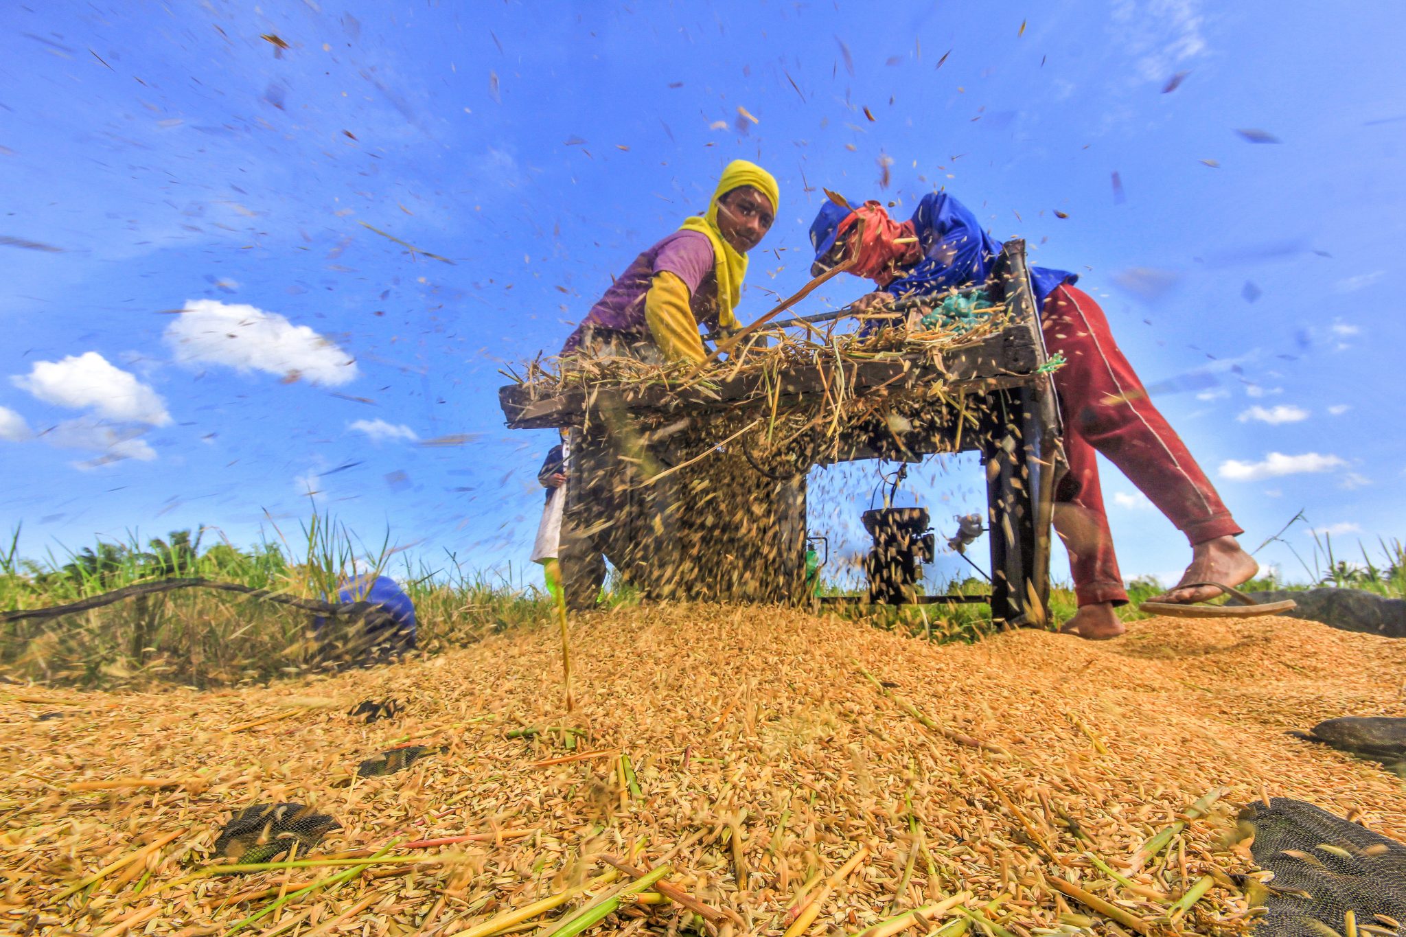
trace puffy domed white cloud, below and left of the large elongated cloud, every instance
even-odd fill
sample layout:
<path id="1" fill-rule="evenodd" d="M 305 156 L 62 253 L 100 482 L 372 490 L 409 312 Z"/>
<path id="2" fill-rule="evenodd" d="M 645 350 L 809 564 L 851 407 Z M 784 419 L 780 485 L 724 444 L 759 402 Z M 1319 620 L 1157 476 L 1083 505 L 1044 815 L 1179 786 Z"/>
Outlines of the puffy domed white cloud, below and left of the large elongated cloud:
<path id="1" fill-rule="evenodd" d="M 28 376 L 10 378 L 45 403 L 84 410 L 131 423 L 166 426 L 172 421 L 166 402 L 135 375 L 112 367 L 97 351 L 69 355 L 62 361 L 35 361 Z"/>

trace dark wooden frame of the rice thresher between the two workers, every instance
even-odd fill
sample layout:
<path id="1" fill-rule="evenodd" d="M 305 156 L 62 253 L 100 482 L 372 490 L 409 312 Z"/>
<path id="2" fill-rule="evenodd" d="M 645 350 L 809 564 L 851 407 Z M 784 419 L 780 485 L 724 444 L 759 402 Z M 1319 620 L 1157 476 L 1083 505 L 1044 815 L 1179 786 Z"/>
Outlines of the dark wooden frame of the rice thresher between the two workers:
<path id="1" fill-rule="evenodd" d="M 801 405 L 808 398 L 824 393 L 827 386 L 835 386 L 842 368 L 845 386 L 855 398 L 882 395 L 891 406 L 910 406 L 911 412 L 922 413 L 921 426 L 896 434 L 882 420 L 872 424 L 856 423 L 844 431 L 838 451 L 815 459 L 815 464 L 872 458 L 920 461 L 934 452 L 979 451 L 987 479 L 993 618 L 1012 627 L 1043 627 L 1047 622 L 1054 480 L 1062 464 L 1060 424 L 1052 382 L 1040 371 L 1046 354 L 1024 242 L 1007 242 L 993 264 L 986 288 L 1005 303 L 1008 325 L 997 334 L 952 348 L 936 362 L 928 361 L 922 354 L 894 353 L 880 360 L 844 361 L 786 372 L 779 376 L 779 386 L 776 375 L 770 376 L 769 385 L 768 378 L 761 375 L 737 375 L 713 381 L 707 386 L 681 388 L 659 381 L 568 389 L 561 393 L 553 393 L 541 385 L 522 384 L 499 389 L 499 403 L 510 428 L 568 427 L 575 431 L 578 445 L 592 441 L 588 448 L 593 447 L 595 454 L 579 461 L 592 468 L 569 469 L 568 478 L 568 513 L 575 511 L 579 520 L 589 513 L 585 502 L 591 500 L 588 492 L 593 487 L 583 472 L 599 473 L 605 462 L 620 457 L 620 447 L 626 443 L 638 452 L 657 452 L 668 465 L 678 465 L 682 459 L 678 444 L 689 438 L 686 431 L 672 440 L 655 443 L 648 433 L 637 431 L 640 423 L 689 426 L 693 421 L 716 421 L 723 416 L 731 419 L 762 406 L 770 407 L 772 400 Z M 959 431 L 960 417 L 949 407 L 925 399 L 925 392 L 939 384 L 948 399 L 962 399 L 972 406 L 972 412 L 980 414 L 974 427 L 967 423 Z M 614 447 L 614 455 L 602 455 L 603 447 Z M 631 459 L 634 457 L 617 465 L 631 464 Z M 651 490 L 641 479 L 636 479 L 628 487 L 638 494 L 631 494 L 624 502 L 607 497 L 612 507 L 606 513 L 613 517 L 593 521 L 598 527 L 617 525 L 614 539 L 623 544 L 619 549 L 633 556 L 638 553 L 624 562 L 636 570 L 636 576 L 645 577 L 645 586 L 650 584 L 648 580 L 662 575 L 658 570 L 664 566 L 664 556 L 671 558 L 668 563 L 673 568 L 669 575 L 675 579 L 683 572 L 678 563 L 688 566 L 686 559 L 679 561 L 681 551 L 675 544 L 668 545 L 672 549 L 665 549 L 666 545 L 659 541 L 661 524 L 672 517 L 666 523 L 682 524 L 679 530 L 685 532 L 675 531 L 669 537 L 686 541 L 686 528 L 697 520 L 692 517 L 695 511 L 690 504 L 697 492 L 703 490 L 699 486 L 707 486 L 709 473 L 713 479 L 723 479 L 748 472 L 735 452 L 710 455 L 707 462 L 703 469 L 688 466 L 671 479 L 671 490 L 683 492 L 678 494 L 681 500 L 676 509 L 659 509 L 655 500 L 665 497 L 664 489 Z M 637 472 L 637 459 L 633 464 L 636 468 L 630 471 Z M 754 565 L 775 569 L 752 570 L 741 576 L 695 568 L 689 572 L 690 582 L 685 586 L 675 583 L 668 594 L 733 601 L 807 598 L 803 583 L 804 475 L 793 482 L 761 478 L 754 482 L 738 483 L 749 489 L 747 497 L 769 506 L 772 514 L 768 530 L 703 532 L 704 528 L 700 527 L 695 534 L 709 538 L 711 552 L 721 551 L 734 558 L 740 552 L 756 553 L 751 556 Z M 599 482 L 595 489 L 599 490 Z M 571 497 L 572 493 L 578 497 Z M 741 496 L 741 490 L 734 492 L 734 496 Z M 697 497 L 706 499 L 707 494 Z M 644 517 L 654 520 L 641 527 Z M 752 518 L 748 523 L 761 521 Z M 728 537 L 733 539 L 727 544 L 718 542 L 718 538 Z M 659 549 L 648 548 L 651 542 Z M 689 552 L 682 551 L 685 556 Z M 652 563 L 654 572 L 651 559 L 659 561 Z M 612 562 L 620 565 L 614 558 Z"/>

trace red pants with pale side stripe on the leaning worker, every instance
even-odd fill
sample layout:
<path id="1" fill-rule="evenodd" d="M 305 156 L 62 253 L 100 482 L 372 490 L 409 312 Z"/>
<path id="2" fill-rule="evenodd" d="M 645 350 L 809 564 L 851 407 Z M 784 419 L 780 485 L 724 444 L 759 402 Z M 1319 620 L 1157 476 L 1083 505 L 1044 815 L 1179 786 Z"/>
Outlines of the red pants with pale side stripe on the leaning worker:
<path id="1" fill-rule="evenodd" d="M 1157 412 L 1088 294 L 1062 285 L 1045 301 L 1045 346 L 1054 371 L 1069 472 L 1054 492 L 1080 605 L 1123 604 L 1122 575 L 1104 513 L 1095 452 L 1116 465 L 1192 545 L 1243 532 L 1197 461 Z"/>

